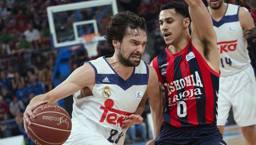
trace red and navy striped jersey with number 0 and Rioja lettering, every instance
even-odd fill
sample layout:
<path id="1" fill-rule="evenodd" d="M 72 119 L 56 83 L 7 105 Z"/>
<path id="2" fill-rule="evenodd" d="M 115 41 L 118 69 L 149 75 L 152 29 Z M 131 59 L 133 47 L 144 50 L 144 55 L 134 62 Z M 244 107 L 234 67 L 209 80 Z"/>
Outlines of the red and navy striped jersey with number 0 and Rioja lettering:
<path id="1" fill-rule="evenodd" d="M 152 61 L 165 88 L 163 123 L 190 127 L 216 122 L 220 73 L 208 66 L 191 41 L 177 54 L 167 48 Z"/>

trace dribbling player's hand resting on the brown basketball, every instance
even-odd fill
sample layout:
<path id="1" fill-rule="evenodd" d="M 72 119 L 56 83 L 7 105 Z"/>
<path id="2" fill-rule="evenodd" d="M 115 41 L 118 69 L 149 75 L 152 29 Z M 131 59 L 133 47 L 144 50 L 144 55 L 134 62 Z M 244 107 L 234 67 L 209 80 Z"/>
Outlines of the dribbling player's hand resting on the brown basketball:
<path id="1" fill-rule="evenodd" d="M 24 125 L 24 129 L 27 133 L 27 135 L 29 136 L 29 131 L 28 131 L 28 125 L 31 125 L 31 120 L 30 117 L 35 118 L 36 116 L 34 115 L 34 113 L 32 112 L 34 109 L 36 109 L 36 107 L 41 106 L 43 104 L 49 104 L 49 101 L 40 101 L 36 104 L 33 105 L 28 105 L 24 114 L 23 114 L 23 125 Z M 29 136 L 30 138 L 30 136 Z"/>

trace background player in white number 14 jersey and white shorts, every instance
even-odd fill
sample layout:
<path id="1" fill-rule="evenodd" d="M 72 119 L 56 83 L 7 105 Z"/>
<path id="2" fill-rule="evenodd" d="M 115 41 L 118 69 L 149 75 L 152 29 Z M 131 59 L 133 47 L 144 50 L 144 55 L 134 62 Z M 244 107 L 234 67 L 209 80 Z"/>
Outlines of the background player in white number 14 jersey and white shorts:
<path id="1" fill-rule="evenodd" d="M 256 143 L 256 81 L 243 30 L 252 29 L 253 19 L 244 7 L 224 0 L 207 0 L 220 52 L 220 88 L 217 125 L 224 135 L 229 110 L 249 145 Z M 193 26 L 192 26 L 193 30 Z"/>

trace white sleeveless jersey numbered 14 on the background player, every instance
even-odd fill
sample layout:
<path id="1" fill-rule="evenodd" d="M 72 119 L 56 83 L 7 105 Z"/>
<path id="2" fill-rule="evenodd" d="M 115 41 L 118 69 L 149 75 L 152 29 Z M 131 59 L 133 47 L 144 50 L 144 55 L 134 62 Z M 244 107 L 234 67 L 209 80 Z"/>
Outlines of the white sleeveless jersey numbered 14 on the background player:
<path id="1" fill-rule="evenodd" d="M 222 76 L 238 73 L 250 64 L 247 40 L 238 19 L 239 6 L 227 4 L 227 10 L 220 21 L 213 20 L 217 34 L 217 47 L 220 52 L 220 71 Z"/>

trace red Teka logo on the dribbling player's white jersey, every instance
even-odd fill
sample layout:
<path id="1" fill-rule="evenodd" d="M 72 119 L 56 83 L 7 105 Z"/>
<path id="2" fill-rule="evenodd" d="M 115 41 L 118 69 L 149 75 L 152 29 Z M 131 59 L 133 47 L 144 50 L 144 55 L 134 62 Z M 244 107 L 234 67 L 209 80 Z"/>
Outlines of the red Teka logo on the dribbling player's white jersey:
<path id="1" fill-rule="evenodd" d="M 104 122 L 106 119 L 107 123 L 122 127 L 123 121 L 127 120 L 128 116 L 133 114 L 133 113 L 113 109 L 112 107 L 114 106 L 114 101 L 111 99 L 107 99 L 104 102 L 104 105 L 105 105 L 105 107 L 100 106 L 100 109 L 104 110 L 104 112 L 100 118 L 100 122 Z"/>

